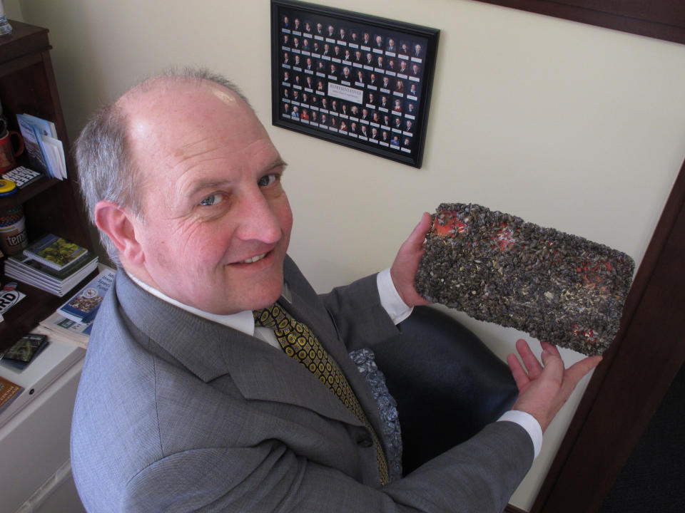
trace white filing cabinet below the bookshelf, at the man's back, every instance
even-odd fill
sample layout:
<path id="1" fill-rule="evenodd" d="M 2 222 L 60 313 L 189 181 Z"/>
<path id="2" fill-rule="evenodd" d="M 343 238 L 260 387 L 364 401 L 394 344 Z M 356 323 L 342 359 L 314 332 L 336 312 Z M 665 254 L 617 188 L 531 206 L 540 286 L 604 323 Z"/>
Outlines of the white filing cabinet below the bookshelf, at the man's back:
<path id="1" fill-rule="evenodd" d="M 78 513 L 69 431 L 86 351 L 51 340 L 24 371 L 0 375 L 24 387 L 0 413 L 0 513 Z"/>

